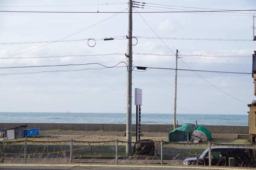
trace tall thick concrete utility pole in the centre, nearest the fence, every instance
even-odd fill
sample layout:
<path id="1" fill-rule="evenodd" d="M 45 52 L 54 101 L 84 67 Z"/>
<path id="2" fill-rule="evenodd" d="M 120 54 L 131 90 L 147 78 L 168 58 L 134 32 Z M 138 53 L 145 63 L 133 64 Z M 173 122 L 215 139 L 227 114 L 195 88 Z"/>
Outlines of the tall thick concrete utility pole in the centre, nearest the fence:
<path id="1" fill-rule="evenodd" d="M 131 72 L 132 72 L 132 0 L 128 1 L 129 13 L 128 13 L 128 44 L 127 44 L 127 59 L 128 59 L 128 83 L 127 83 L 127 113 L 126 113 L 126 156 L 131 155 Z"/>

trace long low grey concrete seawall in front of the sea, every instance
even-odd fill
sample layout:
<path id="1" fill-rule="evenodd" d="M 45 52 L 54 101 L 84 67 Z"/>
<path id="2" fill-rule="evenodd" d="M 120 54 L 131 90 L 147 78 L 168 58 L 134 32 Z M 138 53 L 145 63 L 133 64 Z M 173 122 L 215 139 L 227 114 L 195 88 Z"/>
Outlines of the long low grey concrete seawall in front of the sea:
<path id="1" fill-rule="evenodd" d="M 125 124 L 75 124 L 75 123 L 0 123 L 0 129 L 27 125 L 26 129 L 40 130 L 85 130 L 85 131 L 125 131 Z M 249 126 L 203 125 L 212 133 L 248 134 Z M 141 125 L 142 132 L 166 132 L 171 125 Z M 135 131 L 135 125 L 132 125 Z"/>

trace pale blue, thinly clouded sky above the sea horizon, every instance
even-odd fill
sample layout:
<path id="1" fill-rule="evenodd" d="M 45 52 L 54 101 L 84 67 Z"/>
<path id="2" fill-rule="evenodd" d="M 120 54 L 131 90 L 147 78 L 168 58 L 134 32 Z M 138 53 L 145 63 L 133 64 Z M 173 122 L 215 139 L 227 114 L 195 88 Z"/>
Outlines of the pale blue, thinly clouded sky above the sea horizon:
<path id="1" fill-rule="evenodd" d="M 133 11 L 256 9 L 254 0 L 145 0 Z M 108 3 L 108 5 L 107 5 Z M 160 5 L 159 5 L 160 4 Z M 185 8 L 186 7 L 186 8 Z M 192 8 L 193 7 L 193 8 Z M 127 11 L 126 0 L 1 0 L 1 11 Z M 204 8 L 204 9 L 203 9 Z M 251 73 L 254 11 L 133 13 L 133 65 Z M 144 21 L 145 20 L 145 21 Z M 0 67 L 127 62 L 127 13 L 0 12 Z M 102 38 L 115 37 L 111 41 Z M 169 37 L 217 40 L 166 40 Z M 87 40 L 82 40 L 87 39 Z M 96 40 L 90 40 L 94 39 Z M 247 41 L 230 41 L 233 39 Z M 56 40 L 77 40 L 52 42 Z M 7 42 L 42 42 L 4 44 Z M 89 45 L 94 45 L 90 47 Z M 174 53 L 173 53 L 174 52 Z M 110 55 L 101 55 L 110 54 Z M 152 55 L 161 54 L 161 55 Z M 163 55 L 164 54 L 164 55 Z M 73 57 L 59 57 L 59 56 Z M 16 58 L 15 58 L 16 57 Z M 20 59 L 22 57 L 22 59 Z M 26 57 L 26 58 L 23 58 Z M 30 57 L 30 58 L 28 58 Z M 45 58 L 31 58 L 45 57 Z M 0 112 L 126 113 L 127 69 L 101 65 L 0 69 Z M 44 72 L 42 71 L 49 71 Z M 52 72 L 55 71 L 55 72 Z M 23 74 L 21 74 L 23 73 Z M 29 74 L 30 73 L 30 74 Z M 11 74 L 11 75 L 6 75 Z M 132 88 L 143 90 L 142 113 L 173 113 L 175 71 L 134 68 Z M 251 74 L 177 72 L 177 114 L 247 114 Z M 133 91 L 134 102 L 134 91 Z M 133 104 L 132 111 L 135 112 Z"/>

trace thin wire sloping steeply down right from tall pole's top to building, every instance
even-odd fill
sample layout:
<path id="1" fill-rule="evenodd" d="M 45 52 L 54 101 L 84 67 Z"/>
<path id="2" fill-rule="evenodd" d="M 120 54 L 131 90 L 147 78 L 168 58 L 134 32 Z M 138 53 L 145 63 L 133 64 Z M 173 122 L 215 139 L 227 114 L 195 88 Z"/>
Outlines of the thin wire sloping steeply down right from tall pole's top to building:
<path id="1" fill-rule="evenodd" d="M 136 10 L 135 8 L 134 8 L 134 10 Z M 136 10 L 137 11 L 137 10 Z M 144 18 L 141 16 L 141 14 L 139 14 L 138 13 L 138 15 L 140 15 L 140 17 L 141 17 L 141 19 L 146 23 L 146 25 L 148 25 L 148 27 L 152 30 L 152 28 L 149 26 L 149 24 L 144 20 Z M 157 34 L 156 34 L 156 32 L 153 30 L 153 32 L 154 32 L 154 34 L 157 36 L 157 37 L 159 37 Z M 161 39 L 160 39 L 161 40 Z M 172 49 L 163 41 L 163 40 L 161 40 L 162 42 L 163 42 L 163 44 L 170 50 L 170 51 L 172 51 Z M 173 51 L 172 51 L 172 53 L 174 53 Z M 174 53 L 175 54 L 175 53 Z M 192 70 L 192 68 L 189 66 L 189 65 L 187 65 L 186 64 L 186 62 L 184 62 L 182 59 L 180 59 L 188 68 L 190 68 L 191 70 Z M 194 73 L 195 74 L 197 74 L 199 77 L 201 77 L 202 79 L 204 79 L 204 81 L 206 81 L 206 82 L 208 82 L 210 85 L 212 85 L 212 87 L 214 87 L 214 88 L 216 88 L 216 89 L 218 89 L 219 91 L 221 91 L 222 93 L 224 93 L 224 94 L 226 94 L 226 95 L 228 95 L 228 96 L 230 96 L 230 97 L 232 97 L 233 99 L 236 99 L 236 100 L 238 100 L 238 101 L 240 101 L 240 102 L 244 102 L 243 100 L 241 100 L 241 99 L 238 99 L 237 97 L 235 97 L 235 96 L 233 96 L 233 95 L 231 95 L 231 94 L 228 94 L 227 92 L 225 92 L 225 91 L 223 91 L 223 90 L 221 90 L 220 88 L 218 88 L 217 86 L 215 86 L 215 85 L 213 85 L 211 82 L 209 82 L 207 79 L 205 79 L 204 77 L 202 77 L 200 74 L 198 74 L 196 71 L 194 71 Z M 244 103 L 247 103 L 247 102 L 244 102 Z"/>

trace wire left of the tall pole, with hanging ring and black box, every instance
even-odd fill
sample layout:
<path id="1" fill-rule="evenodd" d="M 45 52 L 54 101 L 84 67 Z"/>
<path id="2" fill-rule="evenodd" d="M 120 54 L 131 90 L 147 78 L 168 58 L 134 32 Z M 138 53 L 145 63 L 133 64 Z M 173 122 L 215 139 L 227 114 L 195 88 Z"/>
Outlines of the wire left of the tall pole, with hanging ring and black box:
<path id="1" fill-rule="evenodd" d="M 124 36 L 115 36 L 111 37 L 114 40 L 126 40 Z M 58 41 L 23 41 L 23 42 L 0 42 L 0 45 L 12 45 L 12 44 L 36 44 L 36 43 L 47 43 L 47 42 L 74 42 L 74 41 L 85 41 L 90 40 L 92 38 L 81 38 L 81 39 L 74 39 L 74 40 L 58 40 Z M 93 40 L 99 41 L 104 40 L 104 38 L 93 38 Z"/>

